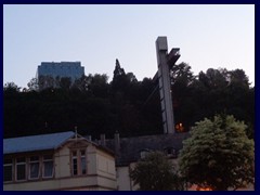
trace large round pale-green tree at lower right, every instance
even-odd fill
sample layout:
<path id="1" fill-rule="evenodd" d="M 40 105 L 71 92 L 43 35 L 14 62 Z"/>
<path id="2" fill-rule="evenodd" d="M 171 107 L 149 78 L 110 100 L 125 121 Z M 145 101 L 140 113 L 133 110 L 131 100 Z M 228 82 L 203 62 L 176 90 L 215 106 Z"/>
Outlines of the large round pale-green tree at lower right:
<path id="1" fill-rule="evenodd" d="M 253 141 L 231 115 L 196 122 L 180 153 L 181 173 L 191 184 L 225 191 L 253 182 Z"/>

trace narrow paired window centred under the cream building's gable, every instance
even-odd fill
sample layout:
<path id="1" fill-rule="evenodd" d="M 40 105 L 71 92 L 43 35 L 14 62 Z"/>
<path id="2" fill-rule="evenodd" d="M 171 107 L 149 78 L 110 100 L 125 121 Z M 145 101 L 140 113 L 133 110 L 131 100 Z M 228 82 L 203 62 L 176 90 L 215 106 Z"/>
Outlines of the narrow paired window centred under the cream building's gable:
<path id="1" fill-rule="evenodd" d="M 86 150 L 73 151 L 72 162 L 73 176 L 87 174 Z"/>

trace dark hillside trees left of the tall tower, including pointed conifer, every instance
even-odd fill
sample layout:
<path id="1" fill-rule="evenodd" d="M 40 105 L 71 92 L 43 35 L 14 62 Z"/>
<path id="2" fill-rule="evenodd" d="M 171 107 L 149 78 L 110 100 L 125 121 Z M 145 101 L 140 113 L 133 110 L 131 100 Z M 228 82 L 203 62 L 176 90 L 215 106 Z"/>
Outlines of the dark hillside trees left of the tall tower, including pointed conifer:
<path id="1" fill-rule="evenodd" d="M 110 83 L 104 74 L 82 76 L 74 82 L 58 77 L 41 77 L 40 82 L 31 79 L 25 92 L 15 83 L 6 83 L 4 138 L 69 131 L 75 126 L 79 133 L 93 139 L 101 133 L 112 138 L 116 131 L 122 136 L 159 133 L 157 100 L 143 106 L 154 88 L 152 79 L 138 81 L 118 61 L 115 69 L 119 70 Z"/>

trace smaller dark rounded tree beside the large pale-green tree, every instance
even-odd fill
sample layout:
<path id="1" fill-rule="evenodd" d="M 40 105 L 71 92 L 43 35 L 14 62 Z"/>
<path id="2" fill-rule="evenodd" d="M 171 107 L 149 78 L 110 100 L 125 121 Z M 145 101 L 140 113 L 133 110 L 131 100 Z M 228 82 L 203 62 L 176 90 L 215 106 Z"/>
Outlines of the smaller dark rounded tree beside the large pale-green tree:
<path id="1" fill-rule="evenodd" d="M 183 190 L 172 162 L 160 152 L 151 152 L 138 161 L 130 178 L 141 191 Z"/>

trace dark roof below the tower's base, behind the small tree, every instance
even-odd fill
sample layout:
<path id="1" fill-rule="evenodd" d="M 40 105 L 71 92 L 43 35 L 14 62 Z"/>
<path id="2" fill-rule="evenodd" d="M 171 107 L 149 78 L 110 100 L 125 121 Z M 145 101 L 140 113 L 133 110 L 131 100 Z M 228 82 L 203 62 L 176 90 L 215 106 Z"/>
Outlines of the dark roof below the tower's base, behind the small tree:
<path id="1" fill-rule="evenodd" d="M 160 151 L 174 148 L 178 153 L 183 144 L 182 141 L 190 136 L 188 132 L 174 134 L 155 134 L 145 136 L 120 138 L 120 148 L 116 152 L 115 140 L 106 140 L 106 146 L 116 152 L 116 162 L 125 166 L 138 161 L 142 151 Z"/>

